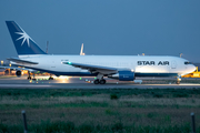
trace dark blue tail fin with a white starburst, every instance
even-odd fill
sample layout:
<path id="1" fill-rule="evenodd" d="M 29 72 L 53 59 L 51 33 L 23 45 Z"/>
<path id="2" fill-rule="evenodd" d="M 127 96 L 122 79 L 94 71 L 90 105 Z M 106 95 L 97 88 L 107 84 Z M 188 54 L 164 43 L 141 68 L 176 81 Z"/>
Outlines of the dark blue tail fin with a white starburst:
<path id="1" fill-rule="evenodd" d="M 14 21 L 6 21 L 19 55 L 47 54 Z"/>

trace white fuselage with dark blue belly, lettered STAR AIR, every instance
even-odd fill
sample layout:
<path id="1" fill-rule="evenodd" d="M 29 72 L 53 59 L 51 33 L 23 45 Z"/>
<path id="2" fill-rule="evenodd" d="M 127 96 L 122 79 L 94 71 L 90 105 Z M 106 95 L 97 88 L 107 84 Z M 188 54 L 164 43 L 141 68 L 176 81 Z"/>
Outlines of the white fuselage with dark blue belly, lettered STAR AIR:
<path id="1" fill-rule="evenodd" d="M 38 64 L 14 64 L 49 72 L 56 75 L 94 75 L 88 70 L 62 64 L 63 61 L 117 69 L 129 69 L 134 71 L 136 76 L 178 76 L 191 73 L 196 70 L 193 64 L 184 64 L 184 62 L 188 61 L 177 57 L 38 54 L 20 55 L 19 58 L 27 61 L 38 62 Z"/>

